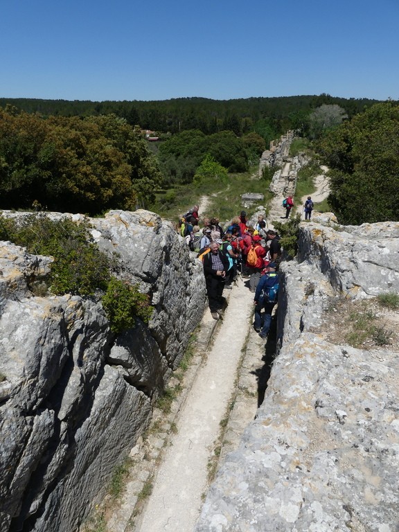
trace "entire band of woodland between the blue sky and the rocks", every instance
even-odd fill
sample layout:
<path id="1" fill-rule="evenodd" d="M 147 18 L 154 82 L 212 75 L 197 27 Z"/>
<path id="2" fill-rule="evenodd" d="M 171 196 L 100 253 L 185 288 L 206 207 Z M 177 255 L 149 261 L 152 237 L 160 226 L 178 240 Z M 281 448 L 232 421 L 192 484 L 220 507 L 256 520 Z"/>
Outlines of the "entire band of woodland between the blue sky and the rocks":
<path id="1" fill-rule="evenodd" d="M 325 94 L 103 103 L 3 98 L 0 105 L 0 209 L 94 215 L 151 207 L 161 186 L 209 182 L 215 169 L 224 178 L 247 172 L 270 140 L 294 129 L 331 168 L 329 202 L 339 222 L 399 219 L 398 102 Z M 146 141 L 145 129 L 161 140 Z"/>

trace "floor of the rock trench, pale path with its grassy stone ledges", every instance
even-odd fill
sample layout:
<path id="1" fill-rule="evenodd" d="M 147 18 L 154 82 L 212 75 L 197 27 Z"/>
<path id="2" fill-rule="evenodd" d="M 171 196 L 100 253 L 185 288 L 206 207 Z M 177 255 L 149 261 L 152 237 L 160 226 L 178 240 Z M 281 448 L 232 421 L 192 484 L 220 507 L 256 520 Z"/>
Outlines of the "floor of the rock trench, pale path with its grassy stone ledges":
<path id="1" fill-rule="evenodd" d="M 154 452 L 147 484 L 142 483 L 151 486 L 151 493 L 138 497 L 137 482 L 128 482 L 107 530 L 193 531 L 218 463 L 238 447 L 263 401 L 274 358 L 276 320 L 265 344 L 252 326 L 254 294 L 247 285 L 239 278 L 232 290 L 225 291 L 229 305 L 223 320 L 215 322 L 206 310 L 198 330 L 197 359 L 188 370 L 182 397 L 172 407 L 177 409 L 173 430 L 166 423 L 161 434 L 148 438 L 155 450 L 163 447 Z M 137 453 L 151 459 L 148 447 L 145 455 L 143 449 Z M 144 475 L 143 460 L 136 468 Z"/>

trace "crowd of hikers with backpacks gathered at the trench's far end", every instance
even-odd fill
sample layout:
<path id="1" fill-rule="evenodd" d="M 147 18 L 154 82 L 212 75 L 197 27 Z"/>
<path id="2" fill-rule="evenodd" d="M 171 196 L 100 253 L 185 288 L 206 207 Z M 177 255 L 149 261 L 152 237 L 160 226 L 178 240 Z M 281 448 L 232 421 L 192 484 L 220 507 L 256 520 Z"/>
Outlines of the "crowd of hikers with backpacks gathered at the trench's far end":
<path id="1" fill-rule="evenodd" d="M 266 229 L 261 214 L 255 224 L 250 224 L 245 211 L 233 218 L 226 230 L 218 218 L 204 218 L 201 225 L 195 205 L 181 218 L 180 232 L 202 260 L 213 319 L 222 319 L 227 306 L 223 290 L 230 289 L 241 276 L 249 280 L 249 290 L 254 292 L 254 328 L 260 337 L 267 337 L 277 301 L 280 236 Z"/>

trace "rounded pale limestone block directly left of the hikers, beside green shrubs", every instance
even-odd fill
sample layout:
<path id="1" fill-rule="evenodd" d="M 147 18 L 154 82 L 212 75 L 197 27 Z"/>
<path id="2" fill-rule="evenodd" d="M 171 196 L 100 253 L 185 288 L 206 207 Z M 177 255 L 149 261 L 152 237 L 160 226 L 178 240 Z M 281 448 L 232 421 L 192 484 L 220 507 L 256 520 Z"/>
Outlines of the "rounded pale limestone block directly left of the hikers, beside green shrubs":
<path id="1" fill-rule="evenodd" d="M 139 283 L 141 291 L 150 295 L 151 334 L 175 369 L 204 312 L 202 263 L 190 256 L 170 222 L 149 211 L 110 211 L 104 219 L 91 221 L 100 249 L 118 254 L 121 277 Z"/>

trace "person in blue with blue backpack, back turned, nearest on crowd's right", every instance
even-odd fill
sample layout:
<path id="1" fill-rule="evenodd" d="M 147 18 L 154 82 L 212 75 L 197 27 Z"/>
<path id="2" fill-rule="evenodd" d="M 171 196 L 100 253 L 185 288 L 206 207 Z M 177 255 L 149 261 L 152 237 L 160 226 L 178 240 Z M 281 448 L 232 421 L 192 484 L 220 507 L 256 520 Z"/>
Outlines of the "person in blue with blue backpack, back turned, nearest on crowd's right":
<path id="1" fill-rule="evenodd" d="M 256 287 L 254 305 L 255 305 L 255 319 L 254 329 L 258 332 L 260 338 L 265 339 L 269 332 L 270 323 L 272 323 L 272 312 L 274 305 L 277 303 L 279 278 L 276 274 L 276 263 L 269 263 L 267 266 L 267 273 L 260 278 L 258 286 Z M 263 313 L 263 326 L 262 316 Z"/>

